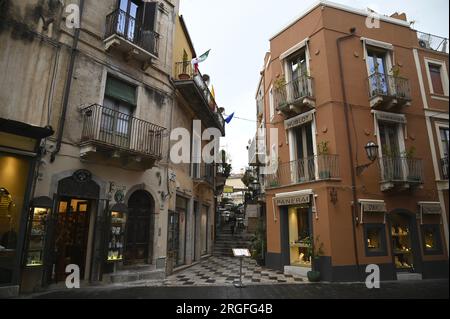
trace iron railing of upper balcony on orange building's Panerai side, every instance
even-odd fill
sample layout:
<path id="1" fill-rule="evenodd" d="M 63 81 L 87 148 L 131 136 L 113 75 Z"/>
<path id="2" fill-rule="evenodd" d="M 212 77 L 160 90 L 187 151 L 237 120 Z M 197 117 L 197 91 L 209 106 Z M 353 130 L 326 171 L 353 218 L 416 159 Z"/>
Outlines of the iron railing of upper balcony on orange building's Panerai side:
<path id="1" fill-rule="evenodd" d="M 306 97 L 314 97 L 313 78 L 307 75 L 282 84 L 274 91 L 275 106 L 280 110 Z"/>

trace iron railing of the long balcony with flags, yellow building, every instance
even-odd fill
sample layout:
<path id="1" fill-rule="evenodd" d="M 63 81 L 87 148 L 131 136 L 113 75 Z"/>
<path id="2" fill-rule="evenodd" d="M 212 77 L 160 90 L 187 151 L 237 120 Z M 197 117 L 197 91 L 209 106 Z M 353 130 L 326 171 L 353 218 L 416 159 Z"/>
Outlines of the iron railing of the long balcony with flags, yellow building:
<path id="1" fill-rule="evenodd" d="M 214 96 L 206 84 L 207 79 L 200 73 L 200 71 L 195 70 L 191 61 L 176 62 L 175 63 L 175 80 L 191 80 L 197 85 L 197 87 L 202 92 L 205 101 L 208 103 L 209 110 L 212 112 L 212 116 L 223 128 L 225 127 L 225 120 L 222 113 L 219 112 L 219 107 L 217 106 Z"/>

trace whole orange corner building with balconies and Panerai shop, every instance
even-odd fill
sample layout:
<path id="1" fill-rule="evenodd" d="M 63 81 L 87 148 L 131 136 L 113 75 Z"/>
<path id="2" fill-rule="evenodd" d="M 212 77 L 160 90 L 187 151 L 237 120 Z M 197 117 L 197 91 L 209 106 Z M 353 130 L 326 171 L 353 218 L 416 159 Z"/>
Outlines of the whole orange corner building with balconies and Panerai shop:
<path id="1" fill-rule="evenodd" d="M 369 14 L 320 2 L 270 39 L 257 94 L 266 265 L 448 277 L 447 39 Z"/>

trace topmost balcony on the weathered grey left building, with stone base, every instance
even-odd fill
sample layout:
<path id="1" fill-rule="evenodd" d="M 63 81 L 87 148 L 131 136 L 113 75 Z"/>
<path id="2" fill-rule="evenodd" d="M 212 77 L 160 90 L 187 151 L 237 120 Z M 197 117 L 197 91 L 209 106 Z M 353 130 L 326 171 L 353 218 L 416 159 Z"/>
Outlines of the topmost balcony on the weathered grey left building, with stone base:
<path id="1" fill-rule="evenodd" d="M 125 60 L 134 58 L 148 63 L 158 58 L 159 34 L 145 30 L 141 23 L 117 9 L 106 16 L 105 49 L 117 50 Z"/>

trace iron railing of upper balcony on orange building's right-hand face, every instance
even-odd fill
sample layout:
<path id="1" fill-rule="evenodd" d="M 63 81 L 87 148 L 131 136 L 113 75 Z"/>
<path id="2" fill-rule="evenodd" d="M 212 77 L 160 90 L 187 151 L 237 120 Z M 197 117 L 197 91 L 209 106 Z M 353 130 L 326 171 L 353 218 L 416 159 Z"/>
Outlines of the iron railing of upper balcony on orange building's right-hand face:
<path id="1" fill-rule="evenodd" d="M 403 100 L 411 100 L 409 80 L 383 73 L 374 73 L 368 77 L 369 97 L 391 96 Z"/>

